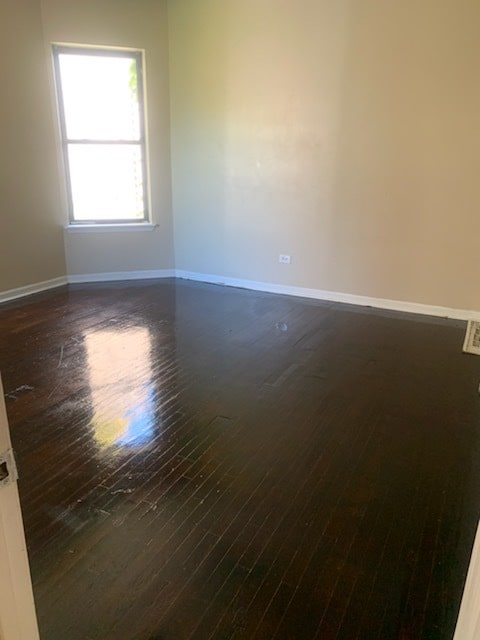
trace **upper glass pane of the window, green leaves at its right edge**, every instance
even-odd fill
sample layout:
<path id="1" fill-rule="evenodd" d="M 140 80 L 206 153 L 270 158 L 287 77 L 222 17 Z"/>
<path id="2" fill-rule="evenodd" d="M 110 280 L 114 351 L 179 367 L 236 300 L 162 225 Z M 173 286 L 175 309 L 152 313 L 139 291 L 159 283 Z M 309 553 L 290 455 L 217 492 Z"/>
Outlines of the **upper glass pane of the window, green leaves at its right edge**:
<path id="1" fill-rule="evenodd" d="M 139 140 L 135 58 L 60 53 L 58 60 L 69 140 Z"/>

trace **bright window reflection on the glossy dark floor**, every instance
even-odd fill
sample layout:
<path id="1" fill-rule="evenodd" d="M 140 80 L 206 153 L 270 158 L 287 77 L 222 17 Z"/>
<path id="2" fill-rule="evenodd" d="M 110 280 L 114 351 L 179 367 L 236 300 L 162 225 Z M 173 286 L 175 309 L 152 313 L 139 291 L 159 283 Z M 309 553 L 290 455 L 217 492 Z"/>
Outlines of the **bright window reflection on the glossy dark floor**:
<path id="1" fill-rule="evenodd" d="M 145 445 L 154 437 L 150 332 L 102 329 L 84 336 L 91 427 L 100 449 Z"/>

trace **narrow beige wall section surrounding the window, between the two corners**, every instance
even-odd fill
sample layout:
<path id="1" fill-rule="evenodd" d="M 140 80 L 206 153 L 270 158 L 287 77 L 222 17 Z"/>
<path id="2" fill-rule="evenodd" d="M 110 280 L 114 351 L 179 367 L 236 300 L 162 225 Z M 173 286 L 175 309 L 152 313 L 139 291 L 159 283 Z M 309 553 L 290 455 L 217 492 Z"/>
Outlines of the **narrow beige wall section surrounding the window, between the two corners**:
<path id="1" fill-rule="evenodd" d="M 52 42 L 131 47 L 146 53 L 152 221 L 158 227 L 131 233 L 67 233 L 68 274 L 173 268 L 166 1 L 41 0 L 41 6 L 47 57 Z"/>

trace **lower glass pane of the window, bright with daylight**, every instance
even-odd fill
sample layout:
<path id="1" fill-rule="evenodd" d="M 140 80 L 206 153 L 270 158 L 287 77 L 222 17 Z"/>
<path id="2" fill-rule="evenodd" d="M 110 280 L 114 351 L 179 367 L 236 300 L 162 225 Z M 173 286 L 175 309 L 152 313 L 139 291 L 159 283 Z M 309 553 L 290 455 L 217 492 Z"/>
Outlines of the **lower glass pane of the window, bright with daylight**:
<path id="1" fill-rule="evenodd" d="M 142 220 L 140 145 L 68 145 L 73 217 L 86 220 Z"/>

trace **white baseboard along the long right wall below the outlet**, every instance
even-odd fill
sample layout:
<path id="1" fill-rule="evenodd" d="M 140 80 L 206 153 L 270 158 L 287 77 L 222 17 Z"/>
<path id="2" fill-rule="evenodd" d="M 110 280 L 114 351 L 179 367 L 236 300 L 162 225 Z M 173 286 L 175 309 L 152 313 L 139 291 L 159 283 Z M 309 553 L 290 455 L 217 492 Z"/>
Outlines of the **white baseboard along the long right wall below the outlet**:
<path id="1" fill-rule="evenodd" d="M 363 307 L 375 307 L 377 309 L 388 309 L 390 311 L 403 311 L 406 313 L 416 313 L 420 315 L 436 316 L 440 318 L 452 318 L 454 320 L 475 320 L 480 318 L 480 311 L 467 309 L 453 309 L 450 307 L 438 307 L 418 302 L 405 302 L 403 300 L 389 300 L 387 298 L 370 298 L 351 293 L 339 293 L 324 289 L 308 289 L 306 287 L 294 287 L 289 285 L 272 284 L 269 282 L 256 282 L 254 280 L 242 280 L 239 278 L 226 278 L 194 271 L 183 271 L 177 269 L 177 278 L 184 280 L 195 280 L 210 284 L 221 284 L 228 287 L 238 287 L 241 289 L 251 289 L 252 291 L 264 291 L 266 293 L 280 293 L 301 298 L 312 298 L 315 300 L 325 300 L 328 302 L 342 302 Z"/>

